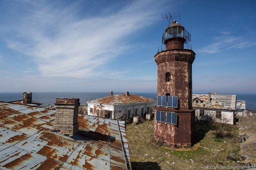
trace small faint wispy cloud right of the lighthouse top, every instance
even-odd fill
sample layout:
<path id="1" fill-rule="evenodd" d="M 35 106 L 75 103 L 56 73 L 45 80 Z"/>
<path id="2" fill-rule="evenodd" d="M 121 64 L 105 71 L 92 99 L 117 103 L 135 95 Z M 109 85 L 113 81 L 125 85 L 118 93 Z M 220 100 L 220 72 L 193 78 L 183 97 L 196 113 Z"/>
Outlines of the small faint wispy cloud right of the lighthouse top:
<path id="1" fill-rule="evenodd" d="M 215 37 L 213 43 L 198 49 L 198 53 L 217 53 L 223 50 L 231 50 L 234 48 L 248 48 L 255 46 L 256 41 L 248 41 L 244 37 L 234 36 L 218 36 Z"/>

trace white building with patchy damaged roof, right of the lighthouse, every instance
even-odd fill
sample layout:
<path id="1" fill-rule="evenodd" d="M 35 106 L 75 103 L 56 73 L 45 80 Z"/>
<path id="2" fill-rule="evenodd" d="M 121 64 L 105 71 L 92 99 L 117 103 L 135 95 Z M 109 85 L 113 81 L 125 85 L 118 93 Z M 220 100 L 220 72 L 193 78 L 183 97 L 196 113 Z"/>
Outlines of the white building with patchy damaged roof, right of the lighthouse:
<path id="1" fill-rule="evenodd" d="M 234 124 L 236 108 L 245 109 L 245 101 L 236 101 L 236 95 L 193 94 L 193 108 L 196 109 L 196 118 L 207 121 L 213 119 L 217 122 Z"/>

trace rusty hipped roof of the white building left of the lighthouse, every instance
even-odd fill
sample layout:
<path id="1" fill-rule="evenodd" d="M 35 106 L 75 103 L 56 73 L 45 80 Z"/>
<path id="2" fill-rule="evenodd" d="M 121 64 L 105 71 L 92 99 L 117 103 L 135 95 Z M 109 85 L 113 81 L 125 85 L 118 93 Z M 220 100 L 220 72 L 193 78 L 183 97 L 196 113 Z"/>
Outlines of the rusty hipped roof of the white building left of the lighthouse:
<path id="1" fill-rule="evenodd" d="M 149 99 L 146 97 L 142 97 L 136 94 L 115 94 L 112 96 L 103 97 L 96 100 L 87 101 L 87 103 L 97 103 L 97 104 L 105 104 L 105 105 L 121 105 L 128 103 L 138 103 L 138 102 L 149 102 L 156 101 L 153 99 Z"/>

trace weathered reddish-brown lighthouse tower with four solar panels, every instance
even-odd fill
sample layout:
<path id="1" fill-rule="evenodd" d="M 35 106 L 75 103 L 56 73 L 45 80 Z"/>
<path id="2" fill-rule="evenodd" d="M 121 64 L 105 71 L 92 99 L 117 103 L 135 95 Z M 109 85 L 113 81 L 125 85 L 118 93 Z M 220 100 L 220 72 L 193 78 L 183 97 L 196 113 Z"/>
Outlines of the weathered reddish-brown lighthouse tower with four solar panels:
<path id="1" fill-rule="evenodd" d="M 195 53 L 191 34 L 175 20 L 165 29 L 162 43 L 166 49 L 155 55 L 157 107 L 154 108 L 154 135 L 172 147 L 192 146 L 195 142 L 195 109 L 192 108 L 192 63 Z"/>

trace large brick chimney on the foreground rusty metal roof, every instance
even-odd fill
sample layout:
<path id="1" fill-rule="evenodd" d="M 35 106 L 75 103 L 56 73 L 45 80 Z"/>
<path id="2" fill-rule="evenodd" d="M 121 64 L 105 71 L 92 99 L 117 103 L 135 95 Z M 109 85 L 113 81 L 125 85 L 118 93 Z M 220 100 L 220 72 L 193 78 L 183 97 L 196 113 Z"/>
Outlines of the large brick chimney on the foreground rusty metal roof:
<path id="1" fill-rule="evenodd" d="M 78 132 L 79 106 L 79 99 L 57 98 L 55 103 L 55 123 L 52 130 L 65 136 L 74 137 Z"/>

